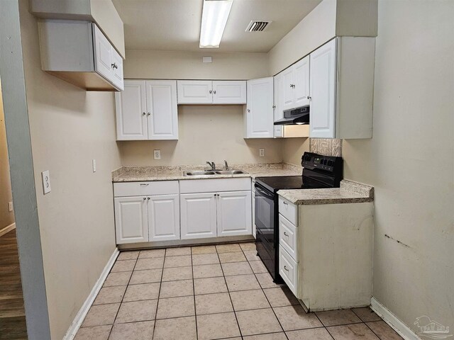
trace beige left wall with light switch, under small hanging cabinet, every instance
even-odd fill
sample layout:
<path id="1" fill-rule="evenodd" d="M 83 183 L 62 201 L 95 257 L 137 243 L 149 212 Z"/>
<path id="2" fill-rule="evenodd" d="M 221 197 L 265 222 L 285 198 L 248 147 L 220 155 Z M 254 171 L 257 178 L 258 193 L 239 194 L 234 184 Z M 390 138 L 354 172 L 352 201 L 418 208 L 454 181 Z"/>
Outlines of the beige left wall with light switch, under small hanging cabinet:
<path id="1" fill-rule="evenodd" d="M 26 0 L 20 16 L 50 329 L 52 339 L 62 339 L 116 247 L 111 171 L 121 162 L 114 94 L 87 92 L 41 71 L 37 21 Z M 44 196 L 45 170 L 52 191 Z"/>

